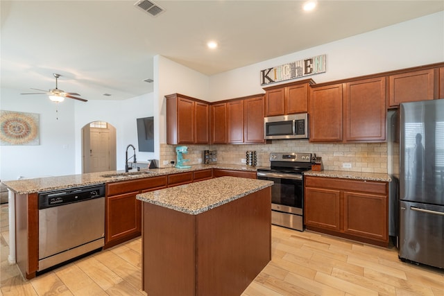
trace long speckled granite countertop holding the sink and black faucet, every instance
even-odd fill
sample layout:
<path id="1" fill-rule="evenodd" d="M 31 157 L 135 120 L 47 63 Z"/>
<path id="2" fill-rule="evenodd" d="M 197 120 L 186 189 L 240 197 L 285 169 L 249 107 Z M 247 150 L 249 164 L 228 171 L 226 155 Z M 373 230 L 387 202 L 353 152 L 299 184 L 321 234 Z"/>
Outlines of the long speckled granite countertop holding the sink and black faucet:
<path id="1" fill-rule="evenodd" d="M 139 172 L 124 173 L 123 171 L 108 171 L 100 173 L 85 173 L 78 175 L 64 175 L 54 177 L 40 177 L 33 179 L 2 181 L 8 189 L 19 194 L 40 193 L 70 187 L 105 184 L 110 182 L 121 182 L 143 177 L 155 177 L 159 175 L 171 175 L 189 171 L 200 171 L 207 168 L 221 168 L 234 171 L 257 171 L 255 166 L 237 164 L 197 164 L 191 168 L 151 168 Z M 117 175 L 117 177 L 104 177 L 106 175 Z"/>

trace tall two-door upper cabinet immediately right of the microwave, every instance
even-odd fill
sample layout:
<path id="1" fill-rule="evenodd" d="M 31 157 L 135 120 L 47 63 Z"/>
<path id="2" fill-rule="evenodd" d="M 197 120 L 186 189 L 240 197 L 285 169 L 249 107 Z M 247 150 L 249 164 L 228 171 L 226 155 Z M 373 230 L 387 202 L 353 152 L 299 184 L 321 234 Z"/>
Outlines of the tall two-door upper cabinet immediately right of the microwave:
<path id="1" fill-rule="evenodd" d="M 313 87 L 311 142 L 380 142 L 386 139 L 386 78 Z"/>

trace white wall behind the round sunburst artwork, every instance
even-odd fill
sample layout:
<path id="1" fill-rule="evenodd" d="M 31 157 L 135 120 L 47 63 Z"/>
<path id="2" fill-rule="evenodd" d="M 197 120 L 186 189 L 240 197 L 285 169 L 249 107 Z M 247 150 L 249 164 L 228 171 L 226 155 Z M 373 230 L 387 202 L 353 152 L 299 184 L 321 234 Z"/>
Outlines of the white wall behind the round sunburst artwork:
<path id="1" fill-rule="evenodd" d="M 73 123 L 79 103 L 66 100 L 56 104 L 47 96 L 22 96 L 15 90 L 1 89 L 1 110 L 40 114 L 40 145 L 0 146 L 0 179 L 74 174 Z"/>

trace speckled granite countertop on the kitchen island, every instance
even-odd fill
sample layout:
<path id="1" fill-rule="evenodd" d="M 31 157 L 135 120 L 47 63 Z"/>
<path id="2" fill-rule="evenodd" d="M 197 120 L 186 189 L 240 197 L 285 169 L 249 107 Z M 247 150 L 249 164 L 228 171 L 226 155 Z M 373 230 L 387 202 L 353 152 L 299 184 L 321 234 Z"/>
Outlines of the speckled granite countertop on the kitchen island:
<path id="1" fill-rule="evenodd" d="M 185 214 L 197 215 L 271 185 L 273 182 L 266 180 L 218 177 L 138 194 L 136 198 Z"/>

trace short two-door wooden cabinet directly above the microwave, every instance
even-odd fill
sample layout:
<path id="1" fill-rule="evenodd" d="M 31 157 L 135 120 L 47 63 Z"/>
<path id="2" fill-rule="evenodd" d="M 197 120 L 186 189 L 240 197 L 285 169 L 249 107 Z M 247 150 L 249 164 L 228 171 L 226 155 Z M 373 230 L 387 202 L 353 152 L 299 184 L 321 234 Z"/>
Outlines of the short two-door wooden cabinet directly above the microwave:
<path id="1" fill-rule="evenodd" d="M 307 79 L 264 88 L 264 116 L 306 113 L 309 85 L 314 85 L 314 81 Z"/>

